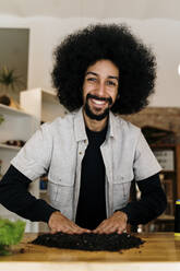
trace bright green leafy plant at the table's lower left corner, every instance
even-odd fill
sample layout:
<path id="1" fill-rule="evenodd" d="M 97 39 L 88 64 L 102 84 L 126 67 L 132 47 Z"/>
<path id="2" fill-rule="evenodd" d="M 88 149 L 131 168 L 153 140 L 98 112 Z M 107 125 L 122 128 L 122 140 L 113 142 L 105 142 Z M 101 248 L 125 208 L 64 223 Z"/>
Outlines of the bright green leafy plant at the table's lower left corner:
<path id="1" fill-rule="evenodd" d="M 0 219 L 0 255 L 10 255 L 10 246 L 21 241 L 25 229 L 25 222 L 12 222 Z"/>

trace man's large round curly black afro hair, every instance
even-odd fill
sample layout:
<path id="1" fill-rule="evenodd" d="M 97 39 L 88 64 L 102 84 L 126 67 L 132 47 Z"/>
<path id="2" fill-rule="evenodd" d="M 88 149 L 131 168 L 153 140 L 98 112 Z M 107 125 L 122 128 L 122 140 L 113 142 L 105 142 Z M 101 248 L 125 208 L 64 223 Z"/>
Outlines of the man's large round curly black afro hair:
<path id="1" fill-rule="evenodd" d="M 155 56 L 125 24 L 96 24 L 76 31 L 65 37 L 53 56 L 52 84 L 60 103 L 70 111 L 83 105 L 85 72 L 101 59 L 112 61 L 119 69 L 120 98 L 111 107 L 113 113 L 137 113 L 154 93 Z"/>

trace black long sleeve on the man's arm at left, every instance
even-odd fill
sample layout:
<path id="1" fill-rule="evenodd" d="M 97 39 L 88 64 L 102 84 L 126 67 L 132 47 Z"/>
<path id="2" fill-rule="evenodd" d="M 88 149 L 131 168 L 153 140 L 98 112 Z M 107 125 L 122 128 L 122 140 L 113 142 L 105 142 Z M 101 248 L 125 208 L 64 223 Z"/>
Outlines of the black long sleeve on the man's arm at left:
<path id="1" fill-rule="evenodd" d="M 57 210 L 32 196 L 28 192 L 29 182 L 27 177 L 10 166 L 0 181 L 0 203 L 24 219 L 48 222 L 51 213 Z"/>

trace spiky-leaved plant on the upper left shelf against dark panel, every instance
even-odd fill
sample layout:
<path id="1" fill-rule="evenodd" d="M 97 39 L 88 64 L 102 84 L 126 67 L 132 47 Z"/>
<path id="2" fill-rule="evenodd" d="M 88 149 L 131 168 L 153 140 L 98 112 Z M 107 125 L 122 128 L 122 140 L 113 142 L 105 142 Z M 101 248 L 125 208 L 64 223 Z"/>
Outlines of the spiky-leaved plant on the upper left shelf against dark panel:
<path id="1" fill-rule="evenodd" d="M 0 84 L 3 89 L 12 91 L 24 85 L 22 76 L 16 74 L 16 70 L 10 69 L 7 66 L 3 66 L 0 69 Z"/>

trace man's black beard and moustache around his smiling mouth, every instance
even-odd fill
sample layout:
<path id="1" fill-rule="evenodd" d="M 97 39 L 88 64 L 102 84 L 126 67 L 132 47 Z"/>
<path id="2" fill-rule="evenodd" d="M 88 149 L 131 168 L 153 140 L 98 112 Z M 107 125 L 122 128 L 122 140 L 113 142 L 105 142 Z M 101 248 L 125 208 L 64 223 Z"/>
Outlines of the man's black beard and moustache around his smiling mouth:
<path id="1" fill-rule="evenodd" d="M 98 101 L 106 101 L 108 102 L 108 107 L 104 110 L 104 113 L 101 114 L 94 114 L 88 105 L 88 99 L 89 98 L 96 98 Z M 112 104 L 112 98 L 111 97 L 98 97 L 96 95 L 92 95 L 92 94 L 87 94 L 86 96 L 86 102 L 85 102 L 85 105 L 84 105 L 84 110 L 87 115 L 87 117 L 89 117 L 91 119 L 95 119 L 95 120 L 103 120 L 104 118 L 106 118 L 108 115 L 109 115 L 109 110 L 110 110 L 110 105 Z"/>

